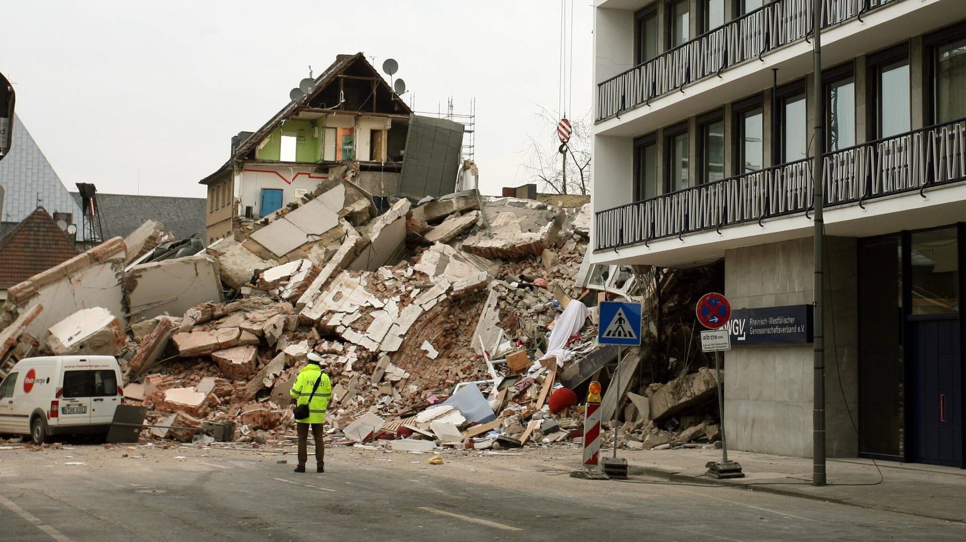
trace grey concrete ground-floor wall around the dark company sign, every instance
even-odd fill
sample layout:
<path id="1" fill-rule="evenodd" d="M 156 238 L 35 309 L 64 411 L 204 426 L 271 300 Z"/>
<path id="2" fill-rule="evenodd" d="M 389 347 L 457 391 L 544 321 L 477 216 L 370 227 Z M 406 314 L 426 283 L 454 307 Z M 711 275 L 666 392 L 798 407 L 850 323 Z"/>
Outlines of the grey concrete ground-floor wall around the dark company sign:
<path id="1" fill-rule="evenodd" d="M 857 240 L 827 237 L 826 430 L 829 457 L 859 452 Z M 732 310 L 811 305 L 812 239 L 725 252 Z M 735 449 L 811 456 L 812 345 L 735 346 L 725 353 L 725 433 Z"/>

